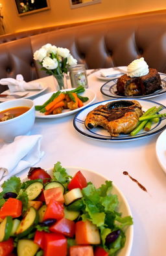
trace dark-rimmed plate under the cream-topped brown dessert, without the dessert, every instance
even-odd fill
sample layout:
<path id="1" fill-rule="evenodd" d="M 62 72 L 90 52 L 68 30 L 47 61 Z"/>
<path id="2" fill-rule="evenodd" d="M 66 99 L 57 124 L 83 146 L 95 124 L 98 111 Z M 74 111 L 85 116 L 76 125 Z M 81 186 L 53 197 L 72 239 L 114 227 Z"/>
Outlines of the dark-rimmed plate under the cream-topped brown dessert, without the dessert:
<path id="1" fill-rule="evenodd" d="M 166 92 L 166 74 L 163 73 L 159 73 L 160 77 L 161 77 L 161 89 L 153 92 L 151 94 L 147 94 L 147 95 L 140 95 L 140 96 L 132 96 L 132 98 L 153 98 L 156 96 L 160 96 L 161 94 Z M 102 85 L 101 87 L 101 93 L 106 95 L 106 96 L 110 96 L 112 98 L 123 98 L 124 96 L 118 95 L 117 94 L 117 79 L 113 79 L 111 81 L 108 81 L 106 83 L 104 83 L 104 85 Z M 125 96 L 125 98 L 130 98 L 130 96 Z"/>

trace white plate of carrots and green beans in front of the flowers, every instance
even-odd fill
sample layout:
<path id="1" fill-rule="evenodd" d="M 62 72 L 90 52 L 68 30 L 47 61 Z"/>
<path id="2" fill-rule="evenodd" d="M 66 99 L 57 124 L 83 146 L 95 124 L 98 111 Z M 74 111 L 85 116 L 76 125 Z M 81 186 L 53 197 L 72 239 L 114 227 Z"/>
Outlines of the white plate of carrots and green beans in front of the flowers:
<path id="1" fill-rule="evenodd" d="M 82 86 L 49 92 L 34 99 L 36 117 L 53 119 L 71 115 L 91 104 L 95 98 L 95 92 Z"/>

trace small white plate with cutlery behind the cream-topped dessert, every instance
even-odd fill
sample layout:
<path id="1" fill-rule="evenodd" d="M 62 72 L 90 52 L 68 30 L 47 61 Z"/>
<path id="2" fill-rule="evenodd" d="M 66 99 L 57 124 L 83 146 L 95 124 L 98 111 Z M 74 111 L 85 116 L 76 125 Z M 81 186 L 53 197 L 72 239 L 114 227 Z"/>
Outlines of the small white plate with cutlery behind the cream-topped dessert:
<path id="1" fill-rule="evenodd" d="M 126 73 L 126 66 L 115 68 L 105 68 L 101 70 L 101 76 L 104 78 L 116 78 Z"/>

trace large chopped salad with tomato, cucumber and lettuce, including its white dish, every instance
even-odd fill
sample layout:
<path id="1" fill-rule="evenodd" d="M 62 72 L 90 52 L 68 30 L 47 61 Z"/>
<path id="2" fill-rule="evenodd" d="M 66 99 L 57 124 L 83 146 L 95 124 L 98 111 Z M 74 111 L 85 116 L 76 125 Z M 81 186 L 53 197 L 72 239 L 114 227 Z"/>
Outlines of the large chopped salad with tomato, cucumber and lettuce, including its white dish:
<path id="1" fill-rule="evenodd" d="M 23 180 L 6 180 L 0 196 L 4 255 L 130 255 L 130 207 L 99 173 L 60 162 L 46 171 L 32 167 Z"/>

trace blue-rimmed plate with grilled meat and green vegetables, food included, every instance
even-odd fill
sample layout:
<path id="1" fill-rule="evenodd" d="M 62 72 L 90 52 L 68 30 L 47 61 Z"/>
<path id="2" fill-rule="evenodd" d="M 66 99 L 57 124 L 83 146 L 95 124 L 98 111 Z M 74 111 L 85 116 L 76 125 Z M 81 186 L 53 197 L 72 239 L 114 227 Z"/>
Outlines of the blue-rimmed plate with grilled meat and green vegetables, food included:
<path id="1" fill-rule="evenodd" d="M 73 120 L 82 135 L 102 141 L 129 141 L 166 128 L 166 107 L 151 100 L 123 98 L 88 106 Z"/>

